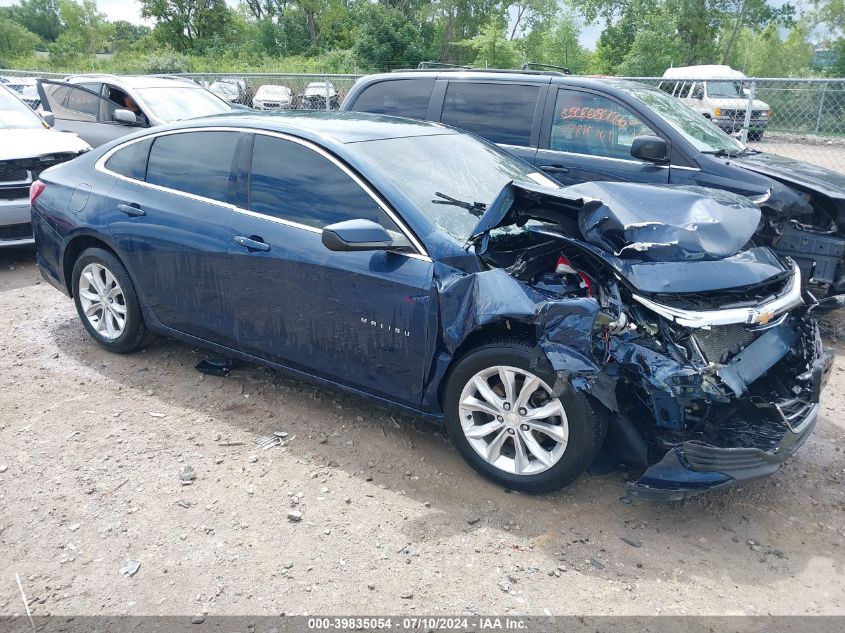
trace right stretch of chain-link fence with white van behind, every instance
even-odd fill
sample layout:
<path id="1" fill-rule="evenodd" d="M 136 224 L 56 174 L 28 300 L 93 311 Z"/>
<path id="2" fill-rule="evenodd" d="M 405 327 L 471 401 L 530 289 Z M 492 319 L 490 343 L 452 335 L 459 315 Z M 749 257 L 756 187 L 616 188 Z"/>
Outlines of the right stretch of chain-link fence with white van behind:
<path id="1" fill-rule="evenodd" d="M 626 79 L 672 94 L 752 149 L 845 173 L 845 79 Z"/>

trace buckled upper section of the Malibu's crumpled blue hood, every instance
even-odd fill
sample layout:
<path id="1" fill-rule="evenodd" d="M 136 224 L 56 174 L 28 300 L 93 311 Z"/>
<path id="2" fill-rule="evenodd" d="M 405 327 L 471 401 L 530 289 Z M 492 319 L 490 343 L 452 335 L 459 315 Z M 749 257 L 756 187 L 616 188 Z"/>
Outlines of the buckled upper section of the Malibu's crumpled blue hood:
<path id="1" fill-rule="evenodd" d="M 567 193 L 601 200 L 579 212 L 581 234 L 622 259 L 724 259 L 742 250 L 760 223 L 760 209 L 747 198 L 703 187 L 588 182 Z"/>

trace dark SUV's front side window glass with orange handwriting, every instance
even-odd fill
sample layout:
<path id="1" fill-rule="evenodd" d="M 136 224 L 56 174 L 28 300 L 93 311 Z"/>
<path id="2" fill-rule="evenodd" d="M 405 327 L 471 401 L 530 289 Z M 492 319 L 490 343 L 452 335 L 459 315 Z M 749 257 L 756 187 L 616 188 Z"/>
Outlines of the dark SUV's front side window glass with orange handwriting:
<path id="1" fill-rule="evenodd" d="M 549 148 L 576 154 L 631 159 L 631 144 L 654 134 L 630 110 L 607 97 L 558 90 Z"/>

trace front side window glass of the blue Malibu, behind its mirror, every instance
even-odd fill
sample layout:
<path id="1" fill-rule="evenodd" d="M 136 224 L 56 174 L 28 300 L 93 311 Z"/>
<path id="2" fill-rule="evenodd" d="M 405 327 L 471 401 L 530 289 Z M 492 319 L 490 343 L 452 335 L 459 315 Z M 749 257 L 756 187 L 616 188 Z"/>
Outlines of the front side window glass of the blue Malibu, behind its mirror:
<path id="1" fill-rule="evenodd" d="M 249 208 L 256 213 L 321 229 L 362 218 L 398 230 L 361 186 L 314 150 L 256 135 L 249 179 Z"/>

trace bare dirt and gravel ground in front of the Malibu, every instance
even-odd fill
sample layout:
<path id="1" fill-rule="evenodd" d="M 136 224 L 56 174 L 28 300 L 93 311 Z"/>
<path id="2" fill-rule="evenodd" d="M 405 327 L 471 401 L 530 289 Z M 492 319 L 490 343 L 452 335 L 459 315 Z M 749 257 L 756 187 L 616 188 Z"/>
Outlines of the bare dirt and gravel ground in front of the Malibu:
<path id="1" fill-rule="evenodd" d="M 0 334 L 0 615 L 16 573 L 35 615 L 845 614 L 841 360 L 776 476 L 655 505 L 621 471 L 508 494 L 409 419 L 171 341 L 108 354 L 31 254 L 0 253 Z"/>

